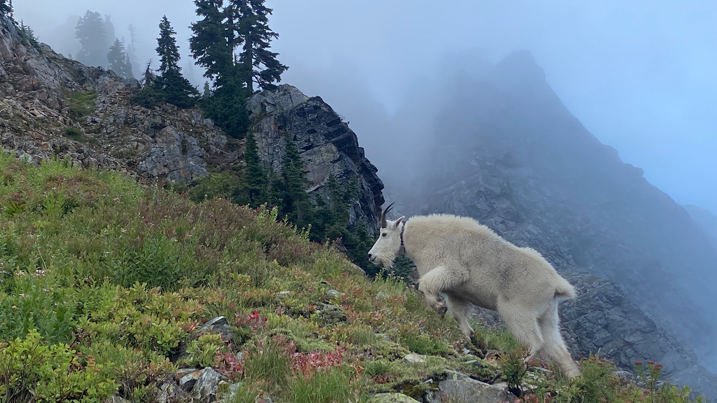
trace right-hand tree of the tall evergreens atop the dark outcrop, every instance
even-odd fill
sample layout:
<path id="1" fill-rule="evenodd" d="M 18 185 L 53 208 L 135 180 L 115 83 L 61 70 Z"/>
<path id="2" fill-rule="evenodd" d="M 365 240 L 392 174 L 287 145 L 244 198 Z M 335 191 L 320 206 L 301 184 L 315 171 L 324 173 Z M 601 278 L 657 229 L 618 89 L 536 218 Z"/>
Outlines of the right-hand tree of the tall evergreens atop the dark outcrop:
<path id="1" fill-rule="evenodd" d="M 250 93 L 254 92 L 254 84 L 265 90 L 275 87 L 273 82 L 280 82 L 281 75 L 288 69 L 271 52 L 270 42 L 277 39 L 279 34 L 269 28 L 268 16 L 272 9 L 264 5 L 265 0 L 229 0 L 229 9 L 233 14 L 229 16 L 234 21 L 234 44 L 242 47 L 239 53 L 239 64 Z"/>

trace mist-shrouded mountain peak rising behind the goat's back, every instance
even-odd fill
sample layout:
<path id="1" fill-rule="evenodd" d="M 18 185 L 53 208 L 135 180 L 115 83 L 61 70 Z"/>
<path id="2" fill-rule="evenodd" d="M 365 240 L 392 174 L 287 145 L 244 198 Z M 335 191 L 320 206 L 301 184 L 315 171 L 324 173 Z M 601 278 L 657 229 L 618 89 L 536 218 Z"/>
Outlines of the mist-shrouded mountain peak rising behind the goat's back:
<path id="1" fill-rule="evenodd" d="M 569 113 L 529 54 L 460 82 L 424 161 L 422 181 L 387 195 L 397 214 L 467 215 L 536 248 L 581 290 L 561 308 L 574 353 L 599 349 L 627 368 L 661 361 L 717 397 L 717 376 L 698 362 L 716 347 L 714 250 Z"/>

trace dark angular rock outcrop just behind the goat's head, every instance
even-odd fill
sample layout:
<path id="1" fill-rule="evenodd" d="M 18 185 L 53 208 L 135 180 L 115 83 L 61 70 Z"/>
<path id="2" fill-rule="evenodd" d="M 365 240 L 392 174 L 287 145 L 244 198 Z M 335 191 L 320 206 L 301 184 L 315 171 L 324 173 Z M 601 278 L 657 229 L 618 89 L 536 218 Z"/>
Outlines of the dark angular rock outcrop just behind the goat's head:
<path id="1" fill-rule="evenodd" d="M 351 207 L 350 224 L 366 222 L 369 234 L 376 230 L 379 217 L 376 207 L 384 203 L 384 184 L 376 167 L 364 156 L 356 133 L 319 97 L 309 98 L 291 85 L 265 90 L 247 103 L 255 133 L 257 151 L 267 166 L 281 171 L 285 153 L 285 136 L 299 149 L 312 182 L 309 191 L 328 198 L 329 174 L 338 183 L 355 182 L 359 199 Z"/>

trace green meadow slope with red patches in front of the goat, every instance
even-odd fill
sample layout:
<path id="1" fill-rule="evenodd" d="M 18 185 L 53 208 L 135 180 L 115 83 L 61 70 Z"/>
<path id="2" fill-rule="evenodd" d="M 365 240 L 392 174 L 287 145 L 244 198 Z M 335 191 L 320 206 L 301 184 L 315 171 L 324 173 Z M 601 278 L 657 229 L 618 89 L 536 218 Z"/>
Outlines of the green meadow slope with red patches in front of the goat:
<path id="1" fill-rule="evenodd" d="M 217 316 L 222 333 L 199 331 Z M 566 381 L 524 366 L 505 331 L 476 328 L 464 340 L 404 283 L 367 279 L 275 210 L 195 204 L 120 173 L 0 153 L 2 403 L 153 402 L 182 368 L 205 366 L 226 376 L 227 402 L 420 399 L 449 371 L 536 403 L 688 402 L 688 390 L 655 383 L 659 365 L 638 387 L 591 357 Z"/>

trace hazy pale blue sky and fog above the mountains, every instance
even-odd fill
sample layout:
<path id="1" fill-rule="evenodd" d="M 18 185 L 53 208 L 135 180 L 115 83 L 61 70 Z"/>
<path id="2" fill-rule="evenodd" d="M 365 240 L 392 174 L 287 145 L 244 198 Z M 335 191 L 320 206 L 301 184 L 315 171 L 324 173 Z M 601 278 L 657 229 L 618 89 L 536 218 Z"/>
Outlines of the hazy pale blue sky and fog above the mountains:
<path id="1" fill-rule="evenodd" d="M 153 57 L 163 14 L 179 31 L 183 53 L 186 27 L 195 18 L 189 0 L 14 3 L 16 16 L 53 47 L 62 44 L 52 27 L 88 8 L 111 14 L 118 36 L 126 35 L 132 22 L 146 58 Z M 392 113 L 416 80 L 435 73 L 445 52 L 478 49 L 497 61 L 528 49 L 569 110 L 623 161 L 644 169 L 675 201 L 717 213 L 717 1 L 267 0 L 267 5 L 275 9 L 270 25 L 281 35 L 274 49 L 291 67 L 283 81 L 321 95 L 355 130 L 367 127 L 356 120 L 366 119 L 356 98 L 373 98 Z M 351 72 L 342 70 L 347 64 Z M 198 68 L 194 74 L 201 84 Z M 322 82 L 322 76 L 333 80 Z M 359 142 L 371 135 L 356 131 Z M 366 152 L 371 158 L 371 149 Z"/>

